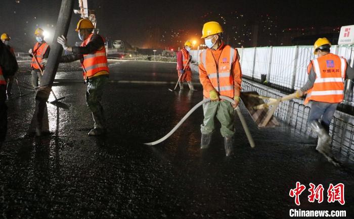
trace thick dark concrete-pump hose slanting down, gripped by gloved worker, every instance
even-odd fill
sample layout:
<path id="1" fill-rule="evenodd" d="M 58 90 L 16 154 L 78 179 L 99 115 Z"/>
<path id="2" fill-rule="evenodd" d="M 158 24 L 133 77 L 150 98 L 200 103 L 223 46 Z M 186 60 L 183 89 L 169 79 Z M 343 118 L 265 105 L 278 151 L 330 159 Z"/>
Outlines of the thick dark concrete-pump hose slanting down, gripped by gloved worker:
<path id="1" fill-rule="evenodd" d="M 62 0 L 62 5 L 57 21 L 57 28 L 55 31 L 51 51 L 49 53 L 45 74 L 43 74 L 40 89 L 37 91 L 35 97 L 35 111 L 32 119 L 32 122 L 34 122 L 34 124 L 31 124 L 31 126 L 34 126 L 36 128 L 36 135 L 40 135 L 40 133 L 44 131 L 42 130 L 42 120 L 43 117 L 48 116 L 45 115 L 45 112 L 47 111 L 47 101 L 52 90 L 55 75 L 57 74 L 59 66 L 58 60 L 63 52 L 62 46 L 57 43 L 57 38 L 61 35 L 67 35 L 73 8 L 74 0 Z"/>

